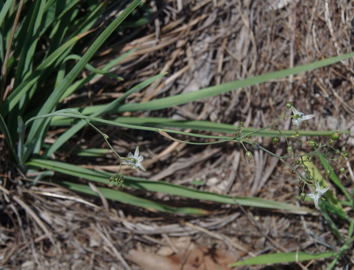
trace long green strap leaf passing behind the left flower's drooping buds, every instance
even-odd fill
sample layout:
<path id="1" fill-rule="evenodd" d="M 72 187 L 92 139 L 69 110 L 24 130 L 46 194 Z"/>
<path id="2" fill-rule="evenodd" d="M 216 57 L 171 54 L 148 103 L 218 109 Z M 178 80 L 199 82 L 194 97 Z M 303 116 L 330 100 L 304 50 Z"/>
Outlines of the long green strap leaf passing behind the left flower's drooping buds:
<path id="1" fill-rule="evenodd" d="M 67 164 L 59 161 L 51 161 L 44 159 L 31 159 L 27 165 L 35 167 L 46 168 L 49 170 L 55 170 L 63 174 L 68 174 L 83 179 L 101 182 L 104 184 L 112 184 L 109 182 L 111 173 L 95 171 L 91 169 L 81 168 L 76 165 Z M 240 204 L 242 206 L 262 207 L 269 209 L 281 209 L 288 210 L 293 213 L 311 213 L 313 210 L 297 207 L 288 203 L 281 203 L 275 201 L 269 201 L 261 198 L 248 198 L 248 197 L 231 197 L 225 195 L 219 195 L 217 193 L 205 192 L 200 190 L 189 189 L 187 187 L 173 185 L 164 181 L 150 181 L 144 178 L 138 178 L 134 176 L 124 176 L 123 186 L 132 187 L 138 190 L 146 190 L 153 192 L 168 193 L 176 196 L 187 197 L 192 199 L 201 199 L 205 201 L 213 201 L 225 204 Z"/>

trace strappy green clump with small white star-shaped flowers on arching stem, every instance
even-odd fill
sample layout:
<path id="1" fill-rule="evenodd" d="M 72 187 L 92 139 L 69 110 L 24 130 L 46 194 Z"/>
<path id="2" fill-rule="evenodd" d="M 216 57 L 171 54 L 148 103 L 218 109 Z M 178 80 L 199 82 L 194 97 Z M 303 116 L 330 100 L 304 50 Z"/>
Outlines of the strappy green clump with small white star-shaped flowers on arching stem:
<path id="1" fill-rule="evenodd" d="M 132 89 L 125 92 L 123 96 L 109 103 L 108 105 L 94 105 L 84 108 L 63 108 L 57 110 L 59 103 L 67 96 L 75 91 L 79 91 L 84 87 L 90 79 L 97 77 L 100 74 L 121 80 L 119 76 L 109 72 L 110 68 L 117 65 L 122 59 L 127 57 L 131 52 L 128 52 L 111 62 L 109 62 L 102 69 L 96 69 L 90 66 L 89 61 L 95 55 L 99 47 L 104 41 L 120 26 L 122 21 L 139 5 L 141 0 L 134 0 L 129 6 L 127 6 L 120 15 L 114 19 L 102 32 L 93 40 L 92 44 L 84 51 L 78 49 L 78 45 L 83 39 L 90 41 L 88 35 L 95 31 L 101 31 L 101 29 L 95 28 L 90 30 L 97 19 L 102 15 L 105 3 L 96 3 L 95 1 L 88 1 L 89 13 L 79 14 L 79 9 L 75 8 L 78 4 L 78 0 L 66 0 L 66 1 L 25 1 L 21 0 L 18 4 L 14 5 L 13 0 L 1 1 L 2 9 L 0 12 L 0 56 L 1 56 L 1 106 L 0 106 L 0 128 L 4 134 L 7 146 L 9 148 L 11 158 L 16 166 L 21 169 L 23 173 L 28 173 L 33 170 L 40 170 L 40 168 L 46 168 L 48 170 L 55 170 L 67 175 L 73 175 L 83 179 L 101 182 L 103 184 L 112 184 L 109 179 L 112 177 L 109 173 L 98 172 L 94 170 L 88 170 L 80 168 L 78 166 L 61 163 L 58 161 L 48 160 L 51 154 L 55 153 L 59 148 L 64 147 L 65 142 L 70 140 L 80 129 L 86 124 L 91 124 L 96 128 L 96 125 L 113 125 L 117 127 L 134 128 L 141 130 L 148 130 L 159 133 L 172 138 L 167 133 L 182 134 L 185 136 L 195 136 L 198 138 L 218 140 L 214 142 L 201 142 L 191 144 L 215 144 L 225 141 L 232 141 L 235 144 L 241 144 L 247 153 L 247 158 L 250 161 L 253 160 L 251 151 L 247 151 L 245 144 L 253 145 L 273 156 L 274 153 L 268 151 L 262 146 L 257 145 L 252 141 L 252 136 L 276 136 L 273 141 L 276 143 L 279 141 L 279 137 L 285 137 L 295 139 L 300 145 L 300 140 L 297 139 L 297 128 L 306 119 L 310 119 L 311 115 L 304 116 L 303 113 L 298 112 L 291 104 L 287 104 L 287 108 L 291 108 L 293 115 L 286 115 L 285 111 L 283 115 L 277 118 L 278 121 L 284 117 L 291 117 L 293 123 L 296 125 L 295 135 L 293 131 L 281 131 L 276 128 L 276 121 L 267 127 L 259 130 L 250 129 L 240 124 L 235 128 L 232 125 L 227 124 L 215 124 L 207 121 L 176 121 L 172 119 L 162 118 L 133 118 L 133 117 L 116 117 L 109 119 L 102 119 L 100 116 L 105 115 L 105 118 L 109 117 L 109 114 L 122 113 L 126 111 L 147 111 L 157 110 L 162 108 L 169 108 L 175 105 L 181 105 L 187 102 L 203 99 L 205 97 L 219 95 L 225 92 L 233 91 L 236 88 L 259 84 L 265 81 L 286 77 L 292 74 L 298 74 L 301 72 L 310 71 L 315 68 L 328 66 L 330 64 L 339 62 L 343 59 L 347 59 L 354 56 L 354 53 L 336 56 L 321 61 L 316 61 L 310 64 L 298 66 L 291 69 L 285 69 L 282 71 L 276 71 L 269 74 L 258 75 L 253 78 L 248 78 L 239 81 L 232 81 L 222 85 L 211 86 L 205 89 L 201 89 L 196 92 L 188 94 L 180 94 L 176 96 L 165 97 L 161 99 L 155 99 L 144 103 L 124 103 L 127 96 L 134 92 L 137 92 L 144 87 L 153 83 L 156 79 L 163 77 L 165 74 L 156 75 L 148 80 L 139 83 Z M 13 6 L 13 9 L 12 9 Z M 11 11 L 12 10 L 12 11 Z M 25 14 L 23 14 L 25 12 Z M 147 11 L 148 12 L 148 11 Z M 149 13 L 149 12 L 148 12 Z M 146 18 L 150 15 L 147 14 Z M 20 19 L 21 18 L 21 19 Z M 145 19 L 146 19 L 145 18 Z M 145 20 L 146 21 L 146 20 Z M 136 27 L 144 23 L 144 21 L 130 22 L 126 24 L 127 27 Z M 45 42 L 48 41 L 48 42 Z M 38 49 L 41 46 L 45 47 L 45 50 Z M 78 56 L 78 54 L 82 56 Z M 72 64 L 72 60 L 75 63 Z M 76 62 L 77 61 L 77 62 Z M 79 78 L 80 72 L 84 69 L 88 69 L 92 72 L 87 78 Z M 10 83 L 10 78 L 13 81 Z M 76 81 L 75 81 L 76 80 Z M 48 89 L 50 89 L 48 91 Z M 78 120 L 79 119 L 79 120 Z M 50 126 L 59 125 L 72 125 L 65 133 L 63 133 L 58 140 L 51 144 L 44 144 L 44 138 L 50 128 Z M 235 136 L 210 136 L 200 135 L 198 133 L 187 133 L 172 129 L 164 129 L 164 127 L 177 127 L 177 128 L 198 128 L 198 130 L 205 131 L 218 131 L 220 133 L 235 133 Z M 272 129 L 273 130 L 270 130 Z M 99 129 L 96 128 L 98 132 Z M 301 135 L 331 135 L 332 139 L 338 139 L 339 133 L 347 133 L 347 131 L 336 131 L 333 135 L 333 131 L 301 131 Z M 109 137 L 106 134 L 101 133 L 104 136 L 107 144 L 109 145 Z M 181 141 L 181 140 L 178 140 Z M 288 143 L 288 152 L 290 156 L 276 156 L 282 162 L 289 166 L 292 171 L 295 171 L 299 176 L 299 184 L 302 185 L 302 191 L 305 184 L 317 185 L 315 175 L 312 176 L 311 171 L 307 165 L 312 158 L 311 154 L 319 153 L 321 147 L 316 146 L 313 141 L 308 141 L 308 144 L 316 147 L 315 151 L 309 154 L 294 154 L 294 149 Z M 302 142 L 301 142 L 302 145 Z M 326 147 L 331 148 L 330 143 L 326 144 Z M 113 149 L 113 148 L 112 148 Z M 41 153 L 43 151 L 43 153 Z M 335 150 L 336 151 L 336 150 Z M 100 154 L 101 151 L 97 149 L 89 149 L 81 151 L 80 154 Z M 104 152 L 104 151 L 103 151 Z M 40 154 L 41 153 L 41 154 Z M 126 162 L 131 165 L 140 167 L 142 161 L 139 156 L 121 157 L 119 153 L 116 153 L 121 162 Z M 320 158 L 325 156 L 319 154 Z M 346 153 L 340 152 L 341 157 L 345 157 Z M 308 173 L 308 178 L 303 177 L 297 172 L 298 168 L 291 167 L 286 161 L 286 158 L 296 157 L 300 158 L 298 168 L 302 166 Z M 307 157 L 307 158 L 305 158 Z M 336 162 L 335 159 L 326 159 L 327 161 Z M 138 164 L 138 162 L 140 164 Z M 133 167 L 134 168 L 134 167 Z M 140 167 L 144 168 L 144 167 Z M 334 169 L 330 165 L 326 165 L 325 168 L 329 168 L 331 172 L 329 177 L 333 182 L 343 191 L 347 196 L 346 203 L 353 206 L 352 195 L 350 196 L 346 189 L 341 185 L 340 181 L 335 178 Z M 344 174 L 343 170 L 340 169 Z M 46 176 L 46 172 L 42 173 Z M 313 177 L 313 179 L 310 178 Z M 220 203 L 240 204 L 245 206 L 266 207 L 271 209 L 284 209 L 289 211 L 297 211 L 300 213 L 309 212 L 310 209 L 303 207 L 296 207 L 291 204 L 278 203 L 274 201 L 267 201 L 260 198 L 247 198 L 239 197 L 233 198 L 229 196 L 222 196 L 216 193 L 201 192 L 198 190 L 187 189 L 185 187 L 171 185 L 169 183 L 159 181 L 151 182 L 143 178 L 135 178 L 131 176 L 123 176 L 119 171 L 112 178 L 114 185 L 129 186 L 134 189 L 141 189 L 146 191 L 164 192 L 172 195 L 184 196 L 194 199 L 210 200 Z M 333 180 L 334 179 L 334 180 Z M 125 180 L 125 181 L 123 181 Z M 92 191 L 87 185 L 77 184 L 68 181 L 59 181 L 57 183 L 68 187 L 69 189 L 84 192 L 90 195 L 96 195 L 97 193 Z M 316 194 L 314 198 L 319 200 L 323 195 L 324 188 L 323 183 L 319 180 L 319 185 L 322 189 L 316 186 Z M 124 191 L 111 189 L 107 187 L 98 188 L 102 194 L 110 199 L 121 201 L 127 204 L 132 204 L 139 207 L 153 208 L 162 212 L 168 213 L 181 213 L 181 214 L 208 214 L 209 212 L 204 209 L 191 208 L 191 207 L 171 207 L 166 204 L 156 203 L 153 200 L 142 199 L 136 196 L 127 194 Z M 319 192 L 322 194 L 319 195 Z M 311 193 L 310 193 L 311 194 Z M 316 195 L 316 196 L 315 196 Z M 304 198 L 304 197 L 303 197 Z M 336 201 L 334 196 L 331 197 L 330 190 L 326 192 L 327 201 L 323 204 L 327 210 L 331 213 L 335 213 L 338 216 L 347 218 L 345 212 L 341 209 L 341 203 Z M 330 199 L 331 198 L 331 199 Z M 321 207 L 322 201 L 319 200 L 319 206 Z M 317 203 L 316 207 L 317 207 Z M 329 217 L 322 211 L 325 217 Z M 326 219 L 327 219 L 326 218 Z M 329 219 L 328 219 L 329 220 Z M 352 224 L 352 223 L 351 223 Z M 352 225 L 351 225 L 352 226 Z M 335 226 L 333 231 L 335 231 Z M 336 232 L 337 234 L 337 232 Z M 350 240 L 350 239 L 349 239 Z M 348 240 L 347 245 L 351 242 Z M 332 253 L 331 253 L 332 254 Z M 339 253 L 338 253 L 339 254 Z M 328 255 L 328 254 L 327 254 Z M 326 255 L 326 256 L 327 256 Z M 334 255 L 334 254 L 333 254 Z M 303 258 L 308 258 L 304 256 Z M 322 257 L 323 258 L 323 257 Z"/>

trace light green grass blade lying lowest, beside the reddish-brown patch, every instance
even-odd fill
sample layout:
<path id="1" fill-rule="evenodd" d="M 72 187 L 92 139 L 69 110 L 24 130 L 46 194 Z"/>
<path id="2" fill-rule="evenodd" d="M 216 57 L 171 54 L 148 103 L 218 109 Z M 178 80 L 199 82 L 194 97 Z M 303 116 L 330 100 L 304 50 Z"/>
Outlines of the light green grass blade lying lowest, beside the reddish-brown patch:
<path id="1" fill-rule="evenodd" d="M 294 261 L 317 260 L 333 257 L 337 251 L 323 252 L 317 254 L 309 254 L 306 252 L 289 252 L 289 253 L 272 253 L 260 255 L 255 258 L 250 258 L 237 263 L 230 264 L 230 267 L 239 265 L 259 265 L 259 264 L 275 264 L 275 263 L 290 263 Z"/>

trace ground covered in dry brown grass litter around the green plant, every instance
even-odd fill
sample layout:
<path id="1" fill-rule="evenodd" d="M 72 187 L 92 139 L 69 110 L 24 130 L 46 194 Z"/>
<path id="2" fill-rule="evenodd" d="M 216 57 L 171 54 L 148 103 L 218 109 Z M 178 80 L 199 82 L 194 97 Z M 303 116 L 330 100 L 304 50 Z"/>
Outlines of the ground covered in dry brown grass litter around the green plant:
<path id="1" fill-rule="evenodd" d="M 99 67 L 122 52 L 136 49 L 116 70 L 125 81 L 117 83 L 105 78 L 92 81 L 83 94 L 70 96 L 64 102 L 73 106 L 109 102 L 143 79 L 169 72 L 164 79 L 126 100 L 145 102 L 353 51 L 353 1 L 167 0 L 148 4 L 157 12 L 150 23 L 142 30 L 132 29 L 132 41 L 126 45 L 109 40 L 91 63 Z M 110 6 L 107 17 L 116 6 Z M 341 160 L 341 165 L 348 168 L 354 164 L 353 68 L 353 61 L 345 60 L 186 105 L 124 113 L 124 116 L 199 119 L 235 126 L 243 121 L 247 127 L 261 128 L 282 113 L 287 101 L 293 100 L 299 111 L 316 114 L 302 129 L 352 131 L 352 135 L 343 135 L 336 142 L 336 147 L 350 154 L 347 161 Z M 280 122 L 278 127 L 294 128 L 290 121 Z M 235 144 L 187 146 L 155 133 L 112 128 L 104 132 L 114 138 L 119 153 L 133 151 L 138 144 L 147 168 L 143 176 L 152 180 L 163 179 L 188 187 L 194 187 L 192 182 L 197 180 L 203 183 L 198 189 L 204 191 L 298 203 L 295 175 L 262 151 L 252 150 L 256 160 L 253 165 Z M 56 136 L 57 132 L 52 130 L 47 141 Z M 90 129 L 74 139 L 73 144 L 78 147 L 106 147 Z M 312 139 L 324 142 L 327 138 Z M 273 146 L 270 138 L 257 140 L 277 154 L 285 153 L 285 146 Z M 304 150 L 309 151 L 306 147 Z M 112 171 L 115 170 L 112 165 L 116 165 L 112 156 L 73 158 L 58 153 L 56 159 L 95 169 L 111 166 L 105 168 Z M 11 167 L 7 162 L 2 157 L 4 168 Z M 319 165 L 316 159 L 315 163 Z M 240 258 L 290 251 L 318 253 L 337 250 L 342 245 L 319 214 L 299 215 L 188 201 L 129 189 L 125 191 L 174 206 L 213 210 L 213 215 L 161 214 L 113 201 L 108 201 L 105 208 L 100 198 L 79 195 L 46 182 L 25 186 L 19 180 L 21 175 L 3 173 L 17 183 L 14 194 L 45 222 L 57 245 L 57 249 L 53 247 L 23 207 L 17 203 L 4 204 L 1 218 L 11 219 L 2 223 L 0 231 L 4 269 L 230 269 L 225 265 Z M 126 173 L 131 174 L 131 170 Z M 354 179 L 353 175 L 348 176 L 347 180 L 340 179 L 351 191 Z M 68 178 L 60 174 L 54 177 Z M 337 196 L 344 199 L 339 190 Z M 314 208 L 310 202 L 305 205 Z M 353 217 L 350 211 L 348 215 Z M 348 224 L 335 221 L 345 235 Z M 155 257 L 172 254 L 174 257 L 165 260 Z M 330 261 L 239 269 L 325 269 Z M 350 249 L 337 267 L 354 269 L 354 254 Z"/>

